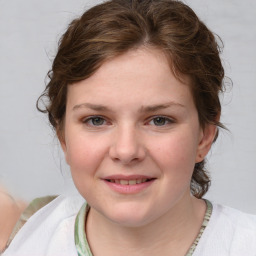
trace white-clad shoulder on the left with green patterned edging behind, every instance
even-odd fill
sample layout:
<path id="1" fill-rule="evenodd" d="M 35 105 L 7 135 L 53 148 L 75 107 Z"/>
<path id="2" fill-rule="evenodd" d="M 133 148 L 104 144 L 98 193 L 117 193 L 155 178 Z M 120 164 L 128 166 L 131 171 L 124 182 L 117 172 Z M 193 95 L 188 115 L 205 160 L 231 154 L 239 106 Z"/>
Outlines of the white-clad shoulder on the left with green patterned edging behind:
<path id="1" fill-rule="evenodd" d="M 74 222 L 83 203 L 84 199 L 78 194 L 68 197 L 58 196 L 51 200 L 49 198 L 34 200 L 22 215 L 25 224 L 3 255 L 22 255 L 21 253 L 54 255 L 48 254 L 49 250 L 56 255 L 60 248 L 63 249 L 60 241 L 67 247 L 67 252 L 74 251 L 72 243 Z"/>

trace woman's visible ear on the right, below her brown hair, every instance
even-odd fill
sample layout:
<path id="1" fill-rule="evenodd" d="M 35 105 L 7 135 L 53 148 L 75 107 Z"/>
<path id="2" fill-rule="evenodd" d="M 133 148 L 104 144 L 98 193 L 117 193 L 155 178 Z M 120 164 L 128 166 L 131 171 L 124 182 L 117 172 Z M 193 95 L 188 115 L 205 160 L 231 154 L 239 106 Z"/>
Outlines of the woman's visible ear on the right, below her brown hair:
<path id="1" fill-rule="evenodd" d="M 217 133 L 217 127 L 214 124 L 207 124 L 200 132 L 200 140 L 197 148 L 196 163 L 203 161 L 211 149 L 212 143 Z"/>

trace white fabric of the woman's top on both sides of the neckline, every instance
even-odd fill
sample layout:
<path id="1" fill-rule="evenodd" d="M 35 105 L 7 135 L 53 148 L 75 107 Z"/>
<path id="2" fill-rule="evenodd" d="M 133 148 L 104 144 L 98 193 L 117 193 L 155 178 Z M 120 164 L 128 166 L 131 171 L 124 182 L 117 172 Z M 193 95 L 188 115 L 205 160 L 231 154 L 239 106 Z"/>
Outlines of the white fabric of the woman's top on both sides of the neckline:
<path id="1" fill-rule="evenodd" d="M 80 195 L 59 196 L 29 219 L 2 255 L 77 256 L 75 218 L 83 203 Z M 193 256 L 256 256 L 256 216 L 213 204 Z"/>

